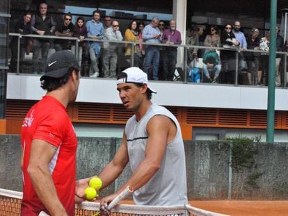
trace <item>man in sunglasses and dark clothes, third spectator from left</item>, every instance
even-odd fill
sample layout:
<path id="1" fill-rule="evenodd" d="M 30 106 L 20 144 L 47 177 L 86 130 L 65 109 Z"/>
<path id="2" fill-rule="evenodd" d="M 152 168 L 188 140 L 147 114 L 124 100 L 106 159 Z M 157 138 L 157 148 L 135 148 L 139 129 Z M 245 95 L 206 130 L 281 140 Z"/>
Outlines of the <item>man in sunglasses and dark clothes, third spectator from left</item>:
<path id="1" fill-rule="evenodd" d="M 59 37 L 72 37 L 74 31 L 74 24 L 72 23 L 72 15 L 67 13 L 63 17 L 63 22 L 56 25 L 55 35 Z M 54 49 L 61 51 L 71 49 L 71 40 L 58 39 L 55 40 Z"/>

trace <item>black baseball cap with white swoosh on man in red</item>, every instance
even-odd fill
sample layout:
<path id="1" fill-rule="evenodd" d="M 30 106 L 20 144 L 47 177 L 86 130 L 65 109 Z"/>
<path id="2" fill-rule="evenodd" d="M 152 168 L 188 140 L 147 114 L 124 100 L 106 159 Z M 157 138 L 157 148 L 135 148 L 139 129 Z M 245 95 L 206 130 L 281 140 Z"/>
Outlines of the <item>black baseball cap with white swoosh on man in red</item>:
<path id="1" fill-rule="evenodd" d="M 45 74 L 41 76 L 40 81 L 45 77 L 60 78 L 67 73 L 70 66 L 79 67 L 74 54 L 68 50 L 56 51 L 47 59 Z"/>

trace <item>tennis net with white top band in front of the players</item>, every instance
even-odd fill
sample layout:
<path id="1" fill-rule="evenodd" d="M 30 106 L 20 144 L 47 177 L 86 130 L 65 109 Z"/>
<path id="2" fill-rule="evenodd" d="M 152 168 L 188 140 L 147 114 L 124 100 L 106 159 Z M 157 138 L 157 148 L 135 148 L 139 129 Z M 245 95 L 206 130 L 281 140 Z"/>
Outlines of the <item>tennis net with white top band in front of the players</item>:
<path id="1" fill-rule="evenodd" d="M 0 216 L 20 215 L 22 192 L 0 188 Z M 75 215 L 93 216 L 99 212 L 99 203 L 83 201 L 75 205 Z M 189 215 L 189 216 L 227 216 L 213 213 L 190 205 L 178 206 L 137 206 L 120 204 L 111 210 L 113 216 L 134 215 Z"/>

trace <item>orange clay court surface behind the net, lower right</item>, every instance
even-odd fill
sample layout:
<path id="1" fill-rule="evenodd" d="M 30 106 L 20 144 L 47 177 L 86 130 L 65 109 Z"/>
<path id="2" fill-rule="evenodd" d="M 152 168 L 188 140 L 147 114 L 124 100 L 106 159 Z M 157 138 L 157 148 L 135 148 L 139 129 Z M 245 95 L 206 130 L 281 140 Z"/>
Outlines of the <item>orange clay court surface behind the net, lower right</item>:
<path id="1" fill-rule="evenodd" d="M 131 204 L 133 201 L 122 203 Z M 189 201 L 191 206 L 233 216 L 287 216 L 288 201 Z"/>

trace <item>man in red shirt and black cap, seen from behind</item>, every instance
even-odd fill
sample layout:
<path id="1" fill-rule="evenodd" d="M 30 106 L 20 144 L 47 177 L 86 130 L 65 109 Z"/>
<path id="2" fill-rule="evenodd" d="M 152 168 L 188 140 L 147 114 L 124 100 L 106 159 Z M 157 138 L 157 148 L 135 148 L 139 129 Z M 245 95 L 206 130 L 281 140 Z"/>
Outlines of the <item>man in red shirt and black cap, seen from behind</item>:
<path id="1" fill-rule="evenodd" d="M 47 94 L 22 125 L 21 215 L 74 215 L 77 138 L 66 108 L 77 98 L 80 76 L 70 51 L 58 51 L 47 60 L 40 78 Z"/>

